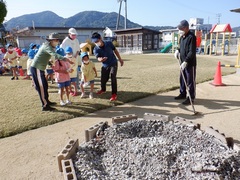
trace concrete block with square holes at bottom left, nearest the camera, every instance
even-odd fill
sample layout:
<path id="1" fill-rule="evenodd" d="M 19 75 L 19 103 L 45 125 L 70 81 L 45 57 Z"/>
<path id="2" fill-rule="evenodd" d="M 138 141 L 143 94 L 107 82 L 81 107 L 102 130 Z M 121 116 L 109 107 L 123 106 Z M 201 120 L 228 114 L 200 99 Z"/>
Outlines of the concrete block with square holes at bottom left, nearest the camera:
<path id="1" fill-rule="evenodd" d="M 76 172 L 73 166 L 72 159 L 62 160 L 64 180 L 77 180 Z"/>

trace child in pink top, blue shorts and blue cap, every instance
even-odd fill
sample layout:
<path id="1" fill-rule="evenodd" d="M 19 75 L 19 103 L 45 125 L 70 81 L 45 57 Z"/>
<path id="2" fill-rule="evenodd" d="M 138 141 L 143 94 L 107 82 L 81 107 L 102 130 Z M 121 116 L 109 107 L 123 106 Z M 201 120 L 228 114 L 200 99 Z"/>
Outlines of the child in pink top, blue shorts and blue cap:
<path id="1" fill-rule="evenodd" d="M 61 56 L 64 56 L 64 49 L 58 48 L 56 50 L 56 53 L 60 54 Z M 58 87 L 60 88 L 60 105 L 64 106 L 66 104 L 71 104 L 71 101 L 69 100 L 69 89 L 70 89 L 70 75 L 73 71 L 71 69 L 69 62 L 67 61 L 60 61 L 56 59 L 55 65 L 53 66 L 53 70 L 55 71 L 55 80 L 58 83 Z M 66 91 L 67 100 L 66 102 L 63 101 L 63 94 L 64 89 Z"/>

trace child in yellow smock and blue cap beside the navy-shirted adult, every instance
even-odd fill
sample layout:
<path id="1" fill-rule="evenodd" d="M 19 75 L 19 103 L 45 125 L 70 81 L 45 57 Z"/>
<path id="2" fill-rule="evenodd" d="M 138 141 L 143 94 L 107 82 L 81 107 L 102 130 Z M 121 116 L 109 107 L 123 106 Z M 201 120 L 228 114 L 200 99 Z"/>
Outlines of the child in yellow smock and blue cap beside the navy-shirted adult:
<path id="1" fill-rule="evenodd" d="M 92 61 L 89 61 L 89 57 L 86 52 L 83 52 L 81 54 L 81 58 L 82 58 L 81 66 L 82 80 L 80 83 L 80 88 L 82 91 L 81 98 L 86 97 L 84 87 L 90 85 L 89 98 L 93 99 L 94 78 L 97 77 L 97 70 L 95 68 L 95 64 Z"/>

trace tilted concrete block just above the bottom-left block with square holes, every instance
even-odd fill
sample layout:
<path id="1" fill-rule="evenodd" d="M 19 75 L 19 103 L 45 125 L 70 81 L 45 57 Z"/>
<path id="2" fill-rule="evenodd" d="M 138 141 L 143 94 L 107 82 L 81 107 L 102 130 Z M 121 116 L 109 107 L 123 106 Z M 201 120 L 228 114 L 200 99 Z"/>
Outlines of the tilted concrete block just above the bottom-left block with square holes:
<path id="1" fill-rule="evenodd" d="M 58 153 L 57 160 L 60 172 L 63 172 L 61 161 L 70 159 L 76 153 L 78 146 L 79 146 L 78 139 L 77 140 L 70 139 L 66 146 L 62 149 L 62 151 Z"/>

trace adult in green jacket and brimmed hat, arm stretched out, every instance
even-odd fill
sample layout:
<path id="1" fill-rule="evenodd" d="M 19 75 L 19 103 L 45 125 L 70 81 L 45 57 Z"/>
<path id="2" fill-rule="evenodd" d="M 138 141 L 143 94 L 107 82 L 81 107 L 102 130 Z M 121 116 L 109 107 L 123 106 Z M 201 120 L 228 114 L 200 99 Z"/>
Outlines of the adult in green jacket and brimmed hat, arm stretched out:
<path id="1" fill-rule="evenodd" d="M 45 77 L 45 69 L 49 60 L 53 56 L 55 59 L 66 60 L 71 63 L 69 59 L 55 52 L 55 47 L 58 44 L 59 34 L 49 34 L 47 41 L 40 47 L 31 64 L 31 74 L 35 88 L 42 102 L 42 111 L 54 111 L 55 108 L 51 107 L 51 105 L 56 104 L 55 102 L 50 102 L 48 99 L 48 82 Z"/>

